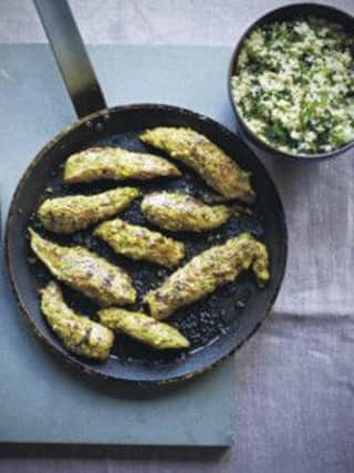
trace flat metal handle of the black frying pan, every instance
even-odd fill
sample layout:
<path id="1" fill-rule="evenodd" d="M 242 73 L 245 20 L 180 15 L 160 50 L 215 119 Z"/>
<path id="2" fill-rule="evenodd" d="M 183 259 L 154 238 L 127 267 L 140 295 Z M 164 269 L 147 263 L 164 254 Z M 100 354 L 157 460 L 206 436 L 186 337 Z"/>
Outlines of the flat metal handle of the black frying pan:
<path id="1" fill-rule="evenodd" d="M 77 116 L 106 109 L 67 0 L 34 0 L 34 4 Z"/>

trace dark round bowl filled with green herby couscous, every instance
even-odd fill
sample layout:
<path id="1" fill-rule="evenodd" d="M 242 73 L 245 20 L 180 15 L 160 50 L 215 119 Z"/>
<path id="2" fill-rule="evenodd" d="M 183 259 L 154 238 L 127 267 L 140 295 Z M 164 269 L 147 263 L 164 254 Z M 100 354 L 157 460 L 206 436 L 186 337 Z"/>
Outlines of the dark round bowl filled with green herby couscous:
<path id="1" fill-rule="evenodd" d="M 351 16 L 315 3 L 277 9 L 247 30 L 229 71 L 247 141 L 308 161 L 354 145 L 353 31 Z"/>

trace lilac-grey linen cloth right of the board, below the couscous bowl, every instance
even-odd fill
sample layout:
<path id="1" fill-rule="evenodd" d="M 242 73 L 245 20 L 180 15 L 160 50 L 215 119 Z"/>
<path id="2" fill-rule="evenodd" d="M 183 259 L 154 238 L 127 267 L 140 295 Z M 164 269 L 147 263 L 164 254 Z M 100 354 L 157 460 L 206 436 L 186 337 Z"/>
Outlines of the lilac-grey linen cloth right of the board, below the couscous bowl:
<path id="1" fill-rule="evenodd" d="M 354 471 L 353 158 L 266 160 L 289 260 L 271 316 L 236 356 L 236 472 Z"/>

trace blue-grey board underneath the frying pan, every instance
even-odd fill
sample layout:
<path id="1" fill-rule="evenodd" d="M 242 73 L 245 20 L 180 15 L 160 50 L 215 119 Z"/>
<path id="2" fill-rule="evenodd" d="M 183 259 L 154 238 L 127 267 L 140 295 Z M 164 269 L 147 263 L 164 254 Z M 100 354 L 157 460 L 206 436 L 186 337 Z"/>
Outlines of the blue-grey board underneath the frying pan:
<path id="1" fill-rule="evenodd" d="M 232 125 L 230 51 L 215 48 L 92 47 L 110 105 L 160 102 Z M 45 142 L 75 120 L 46 45 L 0 45 L 0 184 L 11 195 Z M 69 371 L 32 335 L 0 271 L 0 442 L 229 445 L 233 360 L 157 393 L 93 383 Z"/>

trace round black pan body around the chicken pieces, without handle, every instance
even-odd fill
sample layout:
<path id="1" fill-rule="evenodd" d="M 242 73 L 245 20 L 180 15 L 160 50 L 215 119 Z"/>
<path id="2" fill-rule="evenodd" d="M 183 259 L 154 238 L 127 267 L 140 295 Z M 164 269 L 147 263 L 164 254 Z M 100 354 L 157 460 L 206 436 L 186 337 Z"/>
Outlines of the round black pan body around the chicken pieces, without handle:
<path id="1" fill-rule="evenodd" d="M 110 360 L 103 364 L 86 362 L 67 353 L 45 325 L 40 310 L 38 289 L 50 279 L 49 271 L 31 254 L 28 226 L 62 244 L 83 244 L 112 263 L 124 267 L 133 277 L 138 290 L 134 308 L 142 308 L 143 296 L 162 282 L 170 270 L 132 261 L 115 255 L 107 245 L 91 235 L 92 228 L 72 236 L 58 236 L 45 232 L 34 213 L 48 196 L 92 194 L 116 187 L 136 185 L 143 194 L 157 189 L 186 191 L 212 202 L 215 193 L 192 172 L 177 163 L 184 177 L 156 179 L 149 183 L 101 182 L 90 185 L 65 186 L 61 181 L 65 158 L 93 145 L 119 145 L 132 151 L 152 151 L 137 140 L 146 127 L 158 125 L 191 126 L 220 145 L 239 164 L 252 172 L 252 184 L 258 194 L 252 214 L 241 214 L 221 228 L 202 234 L 183 233 L 174 237 L 187 246 L 185 260 L 201 250 L 223 243 L 229 237 L 248 230 L 264 240 L 271 258 L 271 281 L 259 289 L 253 276 L 244 273 L 233 285 L 226 285 L 214 295 L 178 310 L 168 321 L 178 327 L 191 341 L 188 352 L 156 352 L 132 339 L 119 336 Z M 162 153 L 158 153 L 163 155 Z M 131 223 L 154 228 L 139 212 L 140 199 L 119 216 Z M 116 107 L 79 122 L 54 138 L 35 158 L 22 178 L 13 198 L 7 232 L 10 276 L 22 309 L 43 339 L 91 372 L 133 381 L 166 381 L 204 371 L 239 346 L 269 311 L 281 284 L 285 256 L 287 235 L 284 215 L 278 193 L 266 169 L 253 154 L 226 128 L 209 119 L 191 112 L 167 106 Z M 96 306 L 75 291 L 64 288 L 66 301 L 81 312 L 95 317 Z"/>

